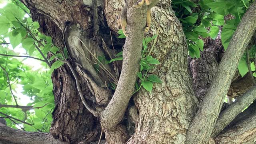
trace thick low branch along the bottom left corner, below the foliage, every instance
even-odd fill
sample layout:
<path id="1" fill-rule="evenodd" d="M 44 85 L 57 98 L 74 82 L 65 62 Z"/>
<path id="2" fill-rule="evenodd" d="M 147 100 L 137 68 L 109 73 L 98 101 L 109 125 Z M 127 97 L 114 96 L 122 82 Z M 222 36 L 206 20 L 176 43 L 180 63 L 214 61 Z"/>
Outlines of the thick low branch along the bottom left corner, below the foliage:
<path id="1" fill-rule="evenodd" d="M 67 144 L 54 139 L 50 133 L 25 132 L 14 130 L 0 124 L 0 142 L 6 141 L 12 144 Z"/>

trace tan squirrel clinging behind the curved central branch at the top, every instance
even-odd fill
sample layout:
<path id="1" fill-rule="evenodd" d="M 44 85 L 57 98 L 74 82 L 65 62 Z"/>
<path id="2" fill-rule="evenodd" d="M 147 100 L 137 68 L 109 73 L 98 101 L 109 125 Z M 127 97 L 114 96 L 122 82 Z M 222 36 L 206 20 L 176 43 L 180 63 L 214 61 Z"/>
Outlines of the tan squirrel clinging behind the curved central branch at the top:
<path id="1" fill-rule="evenodd" d="M 147 8 L 147 20 L 146 20 L 146 27 L 145 27 L 145 32 L 148 32 L 150 28 L 150 23 L 151 23 L 151 8 L 156 6 L 158 4 L 159 0 L 138 0 L 133 7 L 139 8 L 142 6 L 144 3 L 148 5 Z M 123 9 L 118 8 L 119 14 L 116 17 L 116 25 L 115 28 L 117 30 L 122 29 L 124 35 L 126 36 L 126 26 L 127 26 L 127 7 L 124 6 Z"/>

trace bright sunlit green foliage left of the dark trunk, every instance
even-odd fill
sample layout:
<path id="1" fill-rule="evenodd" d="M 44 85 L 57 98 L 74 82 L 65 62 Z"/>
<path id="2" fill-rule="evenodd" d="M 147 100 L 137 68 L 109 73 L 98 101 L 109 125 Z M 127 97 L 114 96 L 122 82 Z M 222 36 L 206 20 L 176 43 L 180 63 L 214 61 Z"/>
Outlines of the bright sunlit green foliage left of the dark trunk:
<path id="1" fill-rule="evenodd" d="M 29 17 L 29 10 L 18 0 L 12 0 L 0 9 L 0 105 L 33 106 L 32 110 L 0 107 L 0 111 L 17 118 L 6 118 L 8 126 L 26 131 L 49 132 L 54 109 L 54 95 L 51 73 L 62 66 L 62 54 L 52 43 L 52 38 L 38 32 L 40 24 Z M 10 41 L 10 44 L 8 44 Z M 44 60 L 52 52 L 59 58 L 52 67 L 42 61 L 15 56 L 32 56 Z M 37 66 L 34 67 L 34 66 Z M 8 76 L 6 75 L 6 72 Z M 8 78 L 10 81 L 8 81 Z M 12 90 L 10 89 L 10 86 Z M 14 95 L 12 94 L 14 93 Z M 2 116 L 2 115 L 0 115 Z M 5 116 L 2 116 L 5 117 Z"/>

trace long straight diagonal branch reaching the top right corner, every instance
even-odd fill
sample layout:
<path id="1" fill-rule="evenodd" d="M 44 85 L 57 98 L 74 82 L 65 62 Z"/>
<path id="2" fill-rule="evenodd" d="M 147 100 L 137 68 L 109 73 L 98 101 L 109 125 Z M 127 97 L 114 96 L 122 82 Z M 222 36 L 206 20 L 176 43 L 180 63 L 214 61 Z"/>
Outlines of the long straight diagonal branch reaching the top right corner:
<path id="1" fill-rule="evenodd" d="M 218 72 L 186 134 L 186 144 L 208 142 L 236 67 L 256 29 L 256 2 L 243 16 L 218 67 Z"/>

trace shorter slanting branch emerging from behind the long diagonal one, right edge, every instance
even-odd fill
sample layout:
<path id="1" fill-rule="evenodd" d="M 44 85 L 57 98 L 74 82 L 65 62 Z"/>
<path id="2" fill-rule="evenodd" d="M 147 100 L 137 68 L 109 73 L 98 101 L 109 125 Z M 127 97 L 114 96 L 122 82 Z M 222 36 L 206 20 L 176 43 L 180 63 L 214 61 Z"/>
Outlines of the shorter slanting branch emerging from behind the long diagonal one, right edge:
<path id="1" fill-rule="evenodd" d="M 250 105 L 256 99 L 256 86 L 252 87 L 245 94 L 240 96 L 234 103 L 226 108 L 220 116 L 214 126 L 212 137 L 216 137 L 232 120 L 236 118 L 238 114 Z"/>

